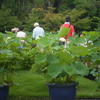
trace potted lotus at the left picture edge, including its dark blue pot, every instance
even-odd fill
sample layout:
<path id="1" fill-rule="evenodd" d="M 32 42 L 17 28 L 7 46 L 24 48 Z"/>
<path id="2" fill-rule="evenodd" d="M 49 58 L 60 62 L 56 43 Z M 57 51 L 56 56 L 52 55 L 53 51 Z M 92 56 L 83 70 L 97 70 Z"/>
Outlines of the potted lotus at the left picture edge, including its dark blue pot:
<path id="1" fill-rule="evenodd" d="M 0 100 L 7 100 L 15 65 L 21 59 L 16 48 L 20 44 L 8 36 L 0 33 Z"/>

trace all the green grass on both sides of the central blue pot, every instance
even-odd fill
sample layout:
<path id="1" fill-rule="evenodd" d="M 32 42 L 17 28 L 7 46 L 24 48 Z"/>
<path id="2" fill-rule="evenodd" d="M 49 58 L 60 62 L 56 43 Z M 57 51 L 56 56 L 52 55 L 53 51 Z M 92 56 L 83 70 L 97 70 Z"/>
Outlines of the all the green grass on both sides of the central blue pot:
<path id="1" fill-rule="evenodd" d="M 79 81 L 79 85 L 76 97 L 100 97 L 100 90 L 97 91 L 98 82 L 81 76 L 77 78 L 77 81 Z M 18 71 L 14 75 L 14 82 L 19 85 L 10 87 L 10 97 L 49 97 L 48 87 L 45 85 L 46 80 L 41 75 L 30 74 L 29 71 Z"/>

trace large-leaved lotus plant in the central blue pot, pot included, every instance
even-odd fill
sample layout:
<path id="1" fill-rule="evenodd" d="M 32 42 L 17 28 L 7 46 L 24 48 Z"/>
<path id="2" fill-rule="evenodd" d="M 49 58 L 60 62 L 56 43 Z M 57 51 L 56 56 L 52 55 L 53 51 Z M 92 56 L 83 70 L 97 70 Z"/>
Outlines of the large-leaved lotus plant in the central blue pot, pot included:
<path id="1" fill-rule="evenodd" d="M 77 45 L 70 43 L 69 48 L 59 45 L 58 40 L 57 35 L 50 34 L 34 40 L 38 53 L 35 54 L 32 71 L 37 71 L 46 78 L 51 100 L 74 100 L 76 86 L 79 84 L 76 77 L 89 72 L 80 56 L 86 56 L 89 52 L 86 47 L 78 45 L 79 42 L 84 42 L 78 37 L 75 38 Z"/>

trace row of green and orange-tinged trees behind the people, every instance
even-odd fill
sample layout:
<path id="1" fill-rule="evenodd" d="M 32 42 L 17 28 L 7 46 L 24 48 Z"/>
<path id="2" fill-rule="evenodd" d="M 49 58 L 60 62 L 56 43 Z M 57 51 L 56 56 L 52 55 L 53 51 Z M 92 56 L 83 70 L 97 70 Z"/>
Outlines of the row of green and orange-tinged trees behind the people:
<path id="1" fill-rule="evenodd" d="M 40 12 L 40 11 L 41 12 Z M 37 13 L 36 13 L 37 12 Z M 34 9 L 29 14 L 29 18 L 27 19 L 27 28 L 31 27 L 32 29 L 32 23 L 33 22 L 39 22 L 40 25 L 48 31 L 51 31 L 52 33 L 57 32 L 60 29 L 60 26 L 64 23 L 66 16 L 71 16 L 71 24 L 75 26 L 75 31 L 83 31 L 83 30 L 94 30 L 94 28 L 97 27 L 97 23 L 99 18 L 94 17 L 91 19 L 90 17 L 87 17 L 88 10 L 82 9 L 72 9 L 72 10 L 65 10 L 61 13 L 53 13 L 54 8 L 49 7 L 48 10 L 43 9 Z M 41 19 L 41 22 L 40 22 Z M 94 20 L 97 20 L 96 22 Z M 30 25 L 29 25 L 30 24 Z M 95 25 L 95 27 L 93 27 Z M 28 30 L 30 30 L 28 28 Z"/>

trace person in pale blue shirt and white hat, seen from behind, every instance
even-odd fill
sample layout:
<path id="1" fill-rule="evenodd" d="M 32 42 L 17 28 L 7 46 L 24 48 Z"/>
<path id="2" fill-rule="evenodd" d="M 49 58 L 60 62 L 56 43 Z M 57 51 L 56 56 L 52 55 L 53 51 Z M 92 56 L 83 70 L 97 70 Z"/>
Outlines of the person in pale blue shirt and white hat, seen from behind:
<path id="1" fill-rule="evenodd" d="M 34 27 L 35 28 L 33 29 L 33 34 L 32 34 L 32 37 L 34 39 L 38 39 L 40 36 L 41 37 L 45 36 L 44 29 L 39 26 L 39 23 L 34 23 Z"/>

